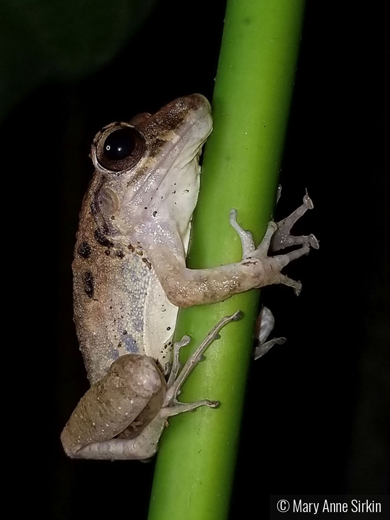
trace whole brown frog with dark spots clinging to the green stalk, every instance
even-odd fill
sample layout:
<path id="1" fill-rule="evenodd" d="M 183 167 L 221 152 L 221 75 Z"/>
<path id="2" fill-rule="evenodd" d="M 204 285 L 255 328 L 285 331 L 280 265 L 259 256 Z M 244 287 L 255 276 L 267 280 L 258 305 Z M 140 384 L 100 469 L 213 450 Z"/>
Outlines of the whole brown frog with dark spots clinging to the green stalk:
<path id="1" fill-rule="evenodd" d="M 211 399 L 184 403 L 178 395 L 205 350 L 241 311 L 222 318 L 182 367 L 179 352 L 190 338 L 173 343 L 179 308 L 221 302 L 270 284 L 288 285 L 296 294 L 301 290 L 301 283 L 281 269 L 318 248 L 314 235 L 290 235 L 296 220 L 313 207 L 307 194 L 289 217 L 271 220 L 257 247 L 231 210 L 241 261 L 186 267 L 199 159 L 212 125 L 209 101 L 192 94 L 154 114 L 111 123 L 93 140 L 95 173 L 82 203 L 72 264 L 74 322 L 90 388 L 61 434 L 71 458 L 148 460 L 168 418 L 218 406 Z M 270 248 L 289 250 L 271 256 Z M 264 341 L 273 322 L 268 311 L 263 314 L 255 357 L 283 340 Z"/>

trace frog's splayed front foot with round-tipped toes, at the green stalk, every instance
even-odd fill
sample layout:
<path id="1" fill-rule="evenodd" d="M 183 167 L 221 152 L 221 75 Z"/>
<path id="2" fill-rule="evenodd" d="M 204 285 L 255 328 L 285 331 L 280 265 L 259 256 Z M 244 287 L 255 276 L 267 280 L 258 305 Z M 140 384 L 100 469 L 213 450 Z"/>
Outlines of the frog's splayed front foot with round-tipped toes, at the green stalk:
<path id="1" fill-rule="evenodd" d="M 292 280 L 288 276 L 283 275 L 280 271 L 287 264 L 309 253 L 310 249 L 318 249 L 319 243 L 314 235 L 294 237 L 290 235 L 290 230 L 295 222 L 307 210 L 313 209 L 313 202 L 309 196 L 305 195 L 303 204 L 298 207 L 291 215 L 275 223 L 271 220 L 268 223 L 262 242 L 255 248 L 252 233 L 243 229 L 237 222 L 237 210 L 231 210 L 229 221 L 231 226 L 237 231 L 242 246 L 243 266 L 256 264 L 256 260 L 261 261 L 263 265 L 262 281 L 259 287 L 271 285 L 274 283 L 283 283 L 289 285 L 295 291 L 295 294 L 301 292 L 301 282 Z M 287 253 L 269 256 L 269 252 L 278 251 L 290 246 L 300 246 L 300 249 L 289 251 Z"/>

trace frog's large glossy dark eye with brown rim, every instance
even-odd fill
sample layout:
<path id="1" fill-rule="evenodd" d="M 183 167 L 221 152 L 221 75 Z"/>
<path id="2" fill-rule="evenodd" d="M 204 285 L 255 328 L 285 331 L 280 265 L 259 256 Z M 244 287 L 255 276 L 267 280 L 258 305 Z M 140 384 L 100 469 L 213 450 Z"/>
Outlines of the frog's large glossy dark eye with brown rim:
<path id="1" fill-rule="evenodd" d="M 122 123 L 123 124 L 123 123 Z M 114 127 L 115 128 L 115 127 Z M 107 170 L 121 172 L 137 164 L 145 149 L 145 141 L 132 126 L 108 129 L 97 143 L 98 162 Z"/>

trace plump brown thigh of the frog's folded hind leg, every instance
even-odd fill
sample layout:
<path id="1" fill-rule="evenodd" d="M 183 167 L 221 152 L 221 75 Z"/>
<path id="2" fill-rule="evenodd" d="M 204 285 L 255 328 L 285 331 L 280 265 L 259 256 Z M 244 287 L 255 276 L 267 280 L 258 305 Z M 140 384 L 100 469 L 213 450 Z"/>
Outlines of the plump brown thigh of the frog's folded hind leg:
<path id="1" fill-rule="evenodd" d="M 61 434 L 64 450 L 78 457 L 84 446 L 118 435 L 159 393 L 165 393 L 165 380 L 153 359 L 121 356 L 77 404 Z"/>

